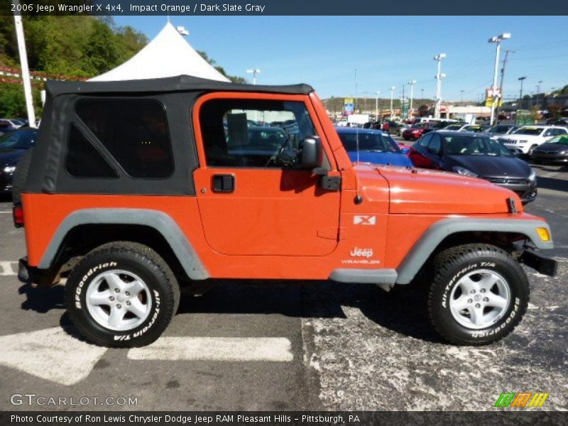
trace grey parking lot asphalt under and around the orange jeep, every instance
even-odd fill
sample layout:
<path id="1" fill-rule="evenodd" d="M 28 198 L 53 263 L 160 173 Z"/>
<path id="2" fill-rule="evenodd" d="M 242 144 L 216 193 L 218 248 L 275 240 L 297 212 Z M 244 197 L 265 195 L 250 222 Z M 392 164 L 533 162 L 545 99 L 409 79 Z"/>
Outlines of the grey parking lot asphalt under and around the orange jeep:
<path id="1" fill-rule="evenodd" d="M 77 337 L 61 287 L 18 282 L 23 231 L 1 200 L 0 408 L 491 410 L 502 392 L 547 392 L 542 409 L 568 410 L 568 191 L 553 181 L 566 182 L 568 173 L 535 169 L 539 185 L 550 187 L 526 211 L 550 223 L 559 275 L 527 269 L 523 322 L 480 348 L 441 342 L 420 288 L 385 293 L 327 281 L 220 283 L 202 297 L 182 297 L 152 349 L 99 348 Z M 91 399 L 13 405 L 14 394 Z M 134 397 L 137 405 L 108 406 L 108 397 Z"/>

